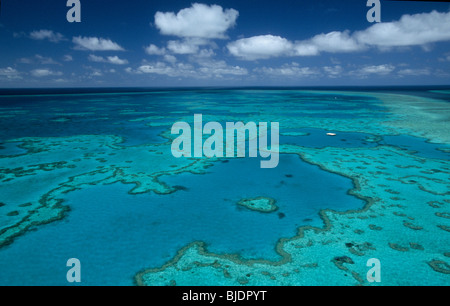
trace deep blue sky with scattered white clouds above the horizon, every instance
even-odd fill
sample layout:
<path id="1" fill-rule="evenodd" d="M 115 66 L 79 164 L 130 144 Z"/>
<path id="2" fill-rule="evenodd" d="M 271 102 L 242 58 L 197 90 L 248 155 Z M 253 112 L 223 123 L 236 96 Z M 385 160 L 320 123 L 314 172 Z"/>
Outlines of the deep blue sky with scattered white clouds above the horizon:
<path id="1" fill-rule="evenodd" d="M 450 3 L 2 0 L 0 88 L 450 85 Z"/>

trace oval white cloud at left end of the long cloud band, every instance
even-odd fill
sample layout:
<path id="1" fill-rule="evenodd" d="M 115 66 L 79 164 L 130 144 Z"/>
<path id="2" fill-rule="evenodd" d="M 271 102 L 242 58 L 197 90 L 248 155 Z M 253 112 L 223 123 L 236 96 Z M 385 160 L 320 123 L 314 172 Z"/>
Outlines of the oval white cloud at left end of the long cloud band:
<path id="1" fill-rule="evenodd" d="M 257 60 L 286 55 L 292 51 L 293 44 L 280 36 L 261 35 L 239 39 L 227 48 L 236 57 Z"/>

